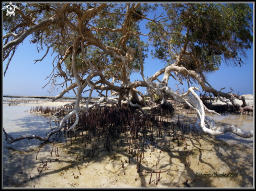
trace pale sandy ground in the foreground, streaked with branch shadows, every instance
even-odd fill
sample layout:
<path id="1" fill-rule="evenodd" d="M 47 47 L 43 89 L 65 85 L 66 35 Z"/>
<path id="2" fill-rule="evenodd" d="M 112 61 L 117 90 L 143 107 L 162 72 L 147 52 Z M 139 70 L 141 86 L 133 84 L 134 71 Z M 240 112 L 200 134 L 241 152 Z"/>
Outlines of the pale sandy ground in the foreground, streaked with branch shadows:
<path id="1" fill-rule="evenodd" d="M 59 106 L 50 102 L 40 105 Z M 187 149 L 184 149 L 185 140 Z M 21 150 L 9 145 L 6 147 L 8 160 L 3 161 L 3 187 L 254 187 L 253 149 L 244 145 L 229 145 L 205 134 L 198 140 L 191 133 L 181 136 L 178 146 L 177 140 L 163 133 L 158 137 L 157 148 L 146 139 L 146 149 L 141 146 L 142 140 L 137 139 L 141 156 L 140 172 L 137 172 L 137 159 L 140 160 L 137 147 L 132 157 L 127 137 L 110 139 L 112 148 L 109 151 L 104 141 L 105 137 L 99 140 L 92 137 L 85 147 L 80 134 L 72 138 L 72 145 L 67 139 L 66 146 L 65 141 L 54 142 L 52 146 L 52 143 L 40 145 L 37 140 L 29 140 L 27 148 Z M 26 144 L 28 140 L 21 142 Z M 135 144 L 131 142 L 134 152 Z M 94 156 L 92 148 L 96 149 Z"/>

